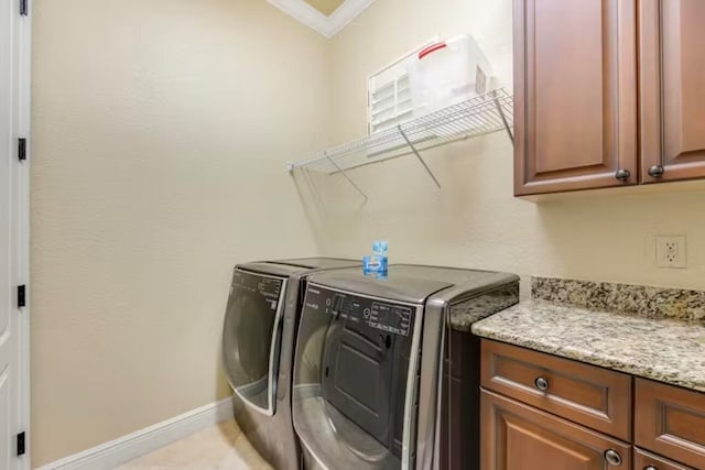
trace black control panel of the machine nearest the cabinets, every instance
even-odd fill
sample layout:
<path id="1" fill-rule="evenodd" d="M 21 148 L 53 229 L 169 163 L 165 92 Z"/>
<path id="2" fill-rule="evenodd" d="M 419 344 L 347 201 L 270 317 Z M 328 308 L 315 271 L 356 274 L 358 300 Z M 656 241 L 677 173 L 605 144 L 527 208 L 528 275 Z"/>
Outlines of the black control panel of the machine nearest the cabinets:
<path id="1" fill-rule="evenodd" d="M 305 307 L 325 311 L 350 323 L 361 321 L 372 328 L 409 336 L 413 307 L 308 285 Z"/>

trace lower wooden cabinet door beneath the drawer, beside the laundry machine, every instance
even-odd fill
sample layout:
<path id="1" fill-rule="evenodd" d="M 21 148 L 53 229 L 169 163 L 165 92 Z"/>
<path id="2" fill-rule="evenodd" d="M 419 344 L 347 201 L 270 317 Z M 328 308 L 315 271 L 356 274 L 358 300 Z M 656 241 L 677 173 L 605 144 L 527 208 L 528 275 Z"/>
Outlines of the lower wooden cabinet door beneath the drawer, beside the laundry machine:
<path id="1" fill-rule="evenodd" d="M 480 402 L 482 470 L 631 468 L 628 444 L 485 390 Z"/>

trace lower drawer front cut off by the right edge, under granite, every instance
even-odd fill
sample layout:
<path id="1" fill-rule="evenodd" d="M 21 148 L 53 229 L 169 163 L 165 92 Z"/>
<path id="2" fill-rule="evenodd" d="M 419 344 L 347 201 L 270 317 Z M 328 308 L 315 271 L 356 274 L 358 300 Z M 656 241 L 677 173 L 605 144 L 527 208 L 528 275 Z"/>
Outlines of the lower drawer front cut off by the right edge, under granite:
<path id="1" fill-rule="evenodd" d="M 705 393 L 637 379 L 637 446 L 705 469 Z"/>

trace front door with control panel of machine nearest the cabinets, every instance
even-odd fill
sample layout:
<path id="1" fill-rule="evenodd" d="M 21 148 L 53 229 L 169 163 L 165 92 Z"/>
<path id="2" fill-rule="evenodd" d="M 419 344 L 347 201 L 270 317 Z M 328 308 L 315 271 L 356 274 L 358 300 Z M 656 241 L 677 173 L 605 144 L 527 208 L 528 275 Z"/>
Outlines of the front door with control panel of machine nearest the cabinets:
<path id="1" fill-rule="evenodd" d="M 292 391 L 307 468 L 414 467 L 422 315 L 417 305 L 308 284 Z"/>

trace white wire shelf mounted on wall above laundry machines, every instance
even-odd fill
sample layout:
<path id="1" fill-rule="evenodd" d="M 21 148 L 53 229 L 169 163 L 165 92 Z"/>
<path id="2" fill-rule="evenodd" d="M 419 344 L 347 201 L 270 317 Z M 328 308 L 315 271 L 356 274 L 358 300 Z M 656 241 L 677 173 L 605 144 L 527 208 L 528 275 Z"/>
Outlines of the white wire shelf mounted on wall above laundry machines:
<path id="1" fill-rule="evenodd" d="M 289 164 L 289 170 L 345 173 L 359 166 L 412 154 L 425 166 L 420 152 L 500 130 L 507 130 L 513 140 L 510 131 L 512 124 L 512 96 L 505 88 L 499 88 L 395 128 L 318 152 L 310 159 Z M 426 171 L 435 181 L 427 167 Z"/>

